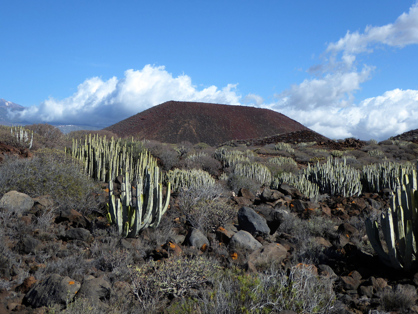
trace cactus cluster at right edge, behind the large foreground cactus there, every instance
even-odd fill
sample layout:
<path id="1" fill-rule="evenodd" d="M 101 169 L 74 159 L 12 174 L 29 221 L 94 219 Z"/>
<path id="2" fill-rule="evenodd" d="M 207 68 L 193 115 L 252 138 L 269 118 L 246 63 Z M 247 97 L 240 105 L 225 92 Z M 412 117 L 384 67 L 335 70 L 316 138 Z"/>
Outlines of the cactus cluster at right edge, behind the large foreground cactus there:
<path id="1" fill-rule="evenodd" d="M 396 179 L 410 174 L 414 166 L 410 162 L 382 162 L 363 166 L 362 184 L 365 192 L 377 193 L 384 188 L 395 190 Z"/>

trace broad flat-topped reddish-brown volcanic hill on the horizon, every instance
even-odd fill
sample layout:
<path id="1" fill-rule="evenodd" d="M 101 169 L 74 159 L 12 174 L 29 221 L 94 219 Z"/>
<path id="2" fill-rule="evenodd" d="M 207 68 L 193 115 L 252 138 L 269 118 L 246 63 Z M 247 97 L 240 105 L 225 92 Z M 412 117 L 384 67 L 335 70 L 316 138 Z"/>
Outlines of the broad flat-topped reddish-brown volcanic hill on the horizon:
<path id="1" fill-rule="evenodd" d="M 104 130 L 119 136 L 139 136 L 166 143 L 190 141 L 213 146 L 232 139 L 260 138 L 309 129 L 269 109 L 167 101 Z"/>

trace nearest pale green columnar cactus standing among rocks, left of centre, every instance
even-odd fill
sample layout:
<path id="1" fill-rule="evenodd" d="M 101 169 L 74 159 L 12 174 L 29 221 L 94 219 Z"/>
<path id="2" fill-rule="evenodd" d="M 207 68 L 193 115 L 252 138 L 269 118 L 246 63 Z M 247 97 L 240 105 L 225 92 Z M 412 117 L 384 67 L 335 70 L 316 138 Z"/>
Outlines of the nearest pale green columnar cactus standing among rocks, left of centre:
<path id="1" fill-rule="evenodd" d="M 152 173 L 153 172 L 153 173 Z M 136 188 L 131 187 L 128 172 L 122 182 L 120 198 L 113 194 L 113 181 L 109 181 L 109 204 L 107 220 L 115 224 L 122 237 L 134 238 L 138 233 L 148 227 L 155 229 L 161 217 L 168 208 L 170 200 L 170 182 L 166 186 L 166 198 L 163 201 L 163 185 L 159 182 L 159 169 L 145 170 L 145 183 L 138 183 Z M 136 203 L 133 205 L 133 195 Z"/>

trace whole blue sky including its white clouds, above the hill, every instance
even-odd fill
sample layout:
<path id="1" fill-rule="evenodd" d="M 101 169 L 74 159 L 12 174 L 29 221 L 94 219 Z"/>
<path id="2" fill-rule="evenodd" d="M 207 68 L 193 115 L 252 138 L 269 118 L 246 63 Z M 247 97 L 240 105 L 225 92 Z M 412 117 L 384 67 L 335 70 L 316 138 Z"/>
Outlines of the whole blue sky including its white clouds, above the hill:
<path id="1" fill-rule="evenodd" d="M 2 1 L 0 12 L 0 98 L 28 106 L 28 121 L 109 125 L 194 100 L 270 108 L 331 138 L 418 128 L 415 1 Z"/>

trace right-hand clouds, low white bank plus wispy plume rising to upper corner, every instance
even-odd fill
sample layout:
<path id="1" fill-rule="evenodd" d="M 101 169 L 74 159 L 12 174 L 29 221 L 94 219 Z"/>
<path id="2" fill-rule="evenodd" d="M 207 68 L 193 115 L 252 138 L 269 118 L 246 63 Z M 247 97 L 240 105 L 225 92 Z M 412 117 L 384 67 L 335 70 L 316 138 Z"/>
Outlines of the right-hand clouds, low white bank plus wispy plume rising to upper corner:
<path id="1" fill-rule="evenodd" d="M 402 48 L 409 44 L 418 44 L 418 2 L 394 23 L 367 26 L 364 33 L 347 31 L 343 38 L 327 46 L 323 63 L 308 69 L 316 77 L 275 95 L 278 100 L 274 103 L 258 106 L 280 111 L 331 138 L 382 140 L 416 129 L 417 90 L 396 88 L 360 103 L 354 98 L 375 69 L 367 64 L 358 69 L 357 54 L 372 53 L 379 45 Z"/>

